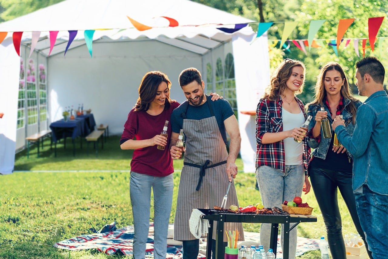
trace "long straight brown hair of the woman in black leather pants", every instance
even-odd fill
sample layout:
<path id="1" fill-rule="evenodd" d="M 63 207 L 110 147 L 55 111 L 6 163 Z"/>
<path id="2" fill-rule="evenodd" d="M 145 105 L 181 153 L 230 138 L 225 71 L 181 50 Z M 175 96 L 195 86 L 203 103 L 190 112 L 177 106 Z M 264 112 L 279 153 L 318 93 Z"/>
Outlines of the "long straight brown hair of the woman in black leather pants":
<path id="1" fill-rule="evenodd" d="M 337 62 L 327 62 L 319 72 L 319 75 L 317 76 L 317 83 L 315 84 L 315 96 L 314 100 L 311 103 L 308 103 L 306 105 L 306 110 L 308 111 L 308 106 L 310 105 L 319 105 L 319 106 L 324 106 L 324 100 L 326 99 L 326 90 L 325 90 L 325 77 L 326 77 L 326 72 L 330 70 L 337 70 L 341 74 L 341 78 L 343 80 L 343 85 L 341 87 L 341 96 L 345 99 L 349 99 L 350 103 L 346 106 L 346 110 L 352 114 L 353 117 L 353 124 L 356 122 L 356 107 L 354 106 L 354 102 L 358 101 L 358 99 L 353 97 L 352 90 L 349 87 L 348 79 L 346 79 L 345 72 L 343 71 L 342 67 L 340 64 Z"/>

